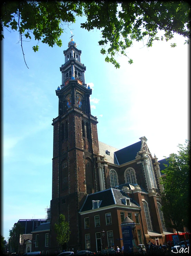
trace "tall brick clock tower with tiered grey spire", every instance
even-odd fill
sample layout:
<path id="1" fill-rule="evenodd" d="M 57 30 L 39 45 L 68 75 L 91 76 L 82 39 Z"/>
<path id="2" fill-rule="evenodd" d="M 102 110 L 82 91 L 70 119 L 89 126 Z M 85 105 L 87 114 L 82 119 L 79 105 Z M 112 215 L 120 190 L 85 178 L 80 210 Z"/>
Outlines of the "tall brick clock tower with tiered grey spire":
<path id="1" fill-rule="evenodd" d="M 97 118 L 91 115 L 92 89 L 85 83 L 86 67 L 71 37 L 63 51 L 62 85 L 56 90 L 59 115 L 53 119 L 50 251 L 58 248 L 54 223 L 65 215 L 70 226 L 68 247 L 80 246 L 79 210 L 87 194 L 100 191 L 96 156 L 99 154 Z"/>

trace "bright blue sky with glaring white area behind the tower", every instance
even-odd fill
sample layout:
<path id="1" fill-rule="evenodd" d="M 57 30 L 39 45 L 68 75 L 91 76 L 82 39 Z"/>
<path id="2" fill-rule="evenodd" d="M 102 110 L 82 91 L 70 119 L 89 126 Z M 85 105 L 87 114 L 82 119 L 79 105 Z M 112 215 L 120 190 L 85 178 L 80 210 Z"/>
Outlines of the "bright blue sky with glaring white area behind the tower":
<path id="1" fill-rule="evenodd" d="M 98 139 L 122 149 L 145 136 L 158 160 L 177 153 L 189 138 L 189 46 L 175 35 L 169 42 L 134 42 L 117 56 L 120 69 L 104 61 L 98 45 L 101 32 L 80 28 L 83 18 L 66 27 L 62 47 L 23 42 L 4 31 L 2 53 L 2 230 L 19 219 L 44 219 L 52 196 L 52 120 L 58 116 L 55 90 L 61 85 L 63 50 L 71 37 L 82 51 L 86 83 L 92 88 L 91 114 L 98 117 Z M 171 48 L 170 44 L 177 47 Z"/>

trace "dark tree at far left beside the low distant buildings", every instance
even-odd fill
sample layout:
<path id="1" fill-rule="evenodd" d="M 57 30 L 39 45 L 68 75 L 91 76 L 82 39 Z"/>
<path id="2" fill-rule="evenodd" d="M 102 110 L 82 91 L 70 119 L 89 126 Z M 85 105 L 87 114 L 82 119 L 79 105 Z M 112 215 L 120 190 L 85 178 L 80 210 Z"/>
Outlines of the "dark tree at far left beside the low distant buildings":
<path id="1" fill-rule="evenodd" d="M 12 229 L 9 230 L 9 249 L 18 253 L 20 235 L 23 234 L 24 227 L 20 223 L 14 224 Z"/>

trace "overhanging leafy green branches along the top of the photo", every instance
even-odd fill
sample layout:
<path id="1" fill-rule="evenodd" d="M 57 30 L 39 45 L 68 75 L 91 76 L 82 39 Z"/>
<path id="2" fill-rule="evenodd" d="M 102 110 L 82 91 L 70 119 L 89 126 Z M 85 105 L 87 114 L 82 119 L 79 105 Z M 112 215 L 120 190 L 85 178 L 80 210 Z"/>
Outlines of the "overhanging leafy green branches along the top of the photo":
<path id="1" fill-rule="evenodd" d="M 114 56 L 127 56 L 125 50 L 133 40 L 146 38 L 150 47 L 155 40 L 172 39 L 174 33 L 190 38 L 190 6 L 185 1 L 5 1 L 1 6 L 0 29 L 18 31 L 21 47 L 23 38 L 31 39 L 32 34 L 37 41 L 61 47 L 64 27 L 75 23 L 77 16 L 87 18 L 82 28 L 101 30 L 101 53 L 116 68 L 120 65 Z M 159 30 L 164 31 L 161 37 Z M 38 44 L 33 46 L 34 52 L 38 49 Z M 133 63 L 132 59 L 129 63 Z"/>

